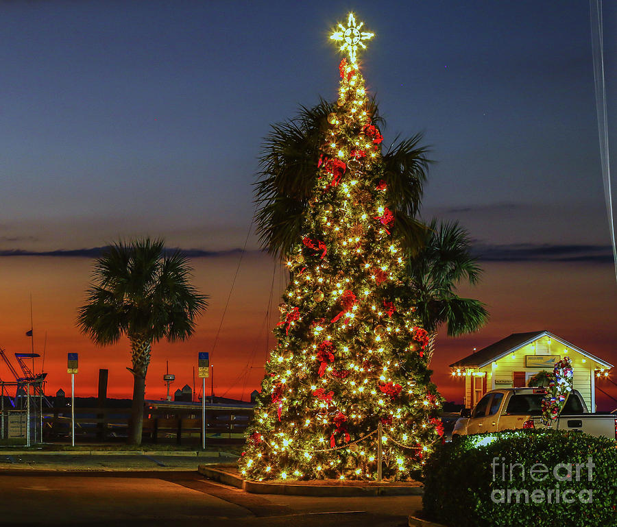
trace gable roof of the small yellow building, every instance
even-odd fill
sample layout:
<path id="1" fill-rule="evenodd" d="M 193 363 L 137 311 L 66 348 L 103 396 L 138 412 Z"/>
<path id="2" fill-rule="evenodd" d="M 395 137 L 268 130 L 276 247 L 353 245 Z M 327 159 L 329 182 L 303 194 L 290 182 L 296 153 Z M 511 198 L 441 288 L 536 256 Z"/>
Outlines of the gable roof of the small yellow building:
<path id="1" fill-rule="evenodd" d="M 602 360 L 589 352 L 585 352 L 585 350 L 581 350 L 580 347 L 574 346 L 569 342 L 564 341 L 564 339 L 560 339 L 559 336 L 551 333 L 547 330 L 542 331 L 531 331 L 527 333 L 513 333 L 507 336 L 505 339 L 501 339 L 500 341 L 493 343 L 487 347 L 484 347 L 479 352 L 472 353 L 471 355 L 462 358 L 461 360 L 457 360 L 456 363 L 450 365 L 451 368 L 463 368 L 463 367 L 476 367 L 481 368 L 494 360 L 499 360 L 500 358 L 505 357 L 508 354 L 516 352 L 516 350 L 520 350 L 520 348 L 531 344 L 533 341 L 537 341 L 537 339 L 542 338 L 542 336 L 548 336 L 551 339 L 555 339 L 559 341 L 564 346 L 569 347 L 571 350 L 579 352 L 581 355 L 584 355 L 591 360 L 594 360 L 599 365 L 612 368 L 613 365 L 606 362 L 606 360 Z"/>

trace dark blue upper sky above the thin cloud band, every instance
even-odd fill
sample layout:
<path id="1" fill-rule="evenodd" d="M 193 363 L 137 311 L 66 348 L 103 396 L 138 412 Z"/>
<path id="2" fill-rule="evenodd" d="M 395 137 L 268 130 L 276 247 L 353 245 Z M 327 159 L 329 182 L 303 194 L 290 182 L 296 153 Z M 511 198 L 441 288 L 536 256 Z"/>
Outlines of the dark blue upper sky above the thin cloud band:
<path id="1" fill-rule="evenodd" d="M 350 8 L 386 139 L 433 145 L 426 215 L 485 243 L 608 243 L 585 2 L 106 0 L 0 7 L 0 248 L 239 245 L 261 138 L 335 96 Z"/>

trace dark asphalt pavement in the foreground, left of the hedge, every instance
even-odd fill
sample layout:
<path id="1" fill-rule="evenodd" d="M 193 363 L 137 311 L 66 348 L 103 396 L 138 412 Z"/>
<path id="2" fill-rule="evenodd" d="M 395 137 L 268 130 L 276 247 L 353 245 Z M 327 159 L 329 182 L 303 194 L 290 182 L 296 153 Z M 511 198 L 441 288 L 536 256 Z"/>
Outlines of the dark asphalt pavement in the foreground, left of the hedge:
<path id="1" fill-rule="evenodd" d="M 5 469 L 0 496 L 0 526 L 20 527 L 402 527 L 422 507 L 419 496 L 254 495 L 195 471 L 156 469 Z"/>

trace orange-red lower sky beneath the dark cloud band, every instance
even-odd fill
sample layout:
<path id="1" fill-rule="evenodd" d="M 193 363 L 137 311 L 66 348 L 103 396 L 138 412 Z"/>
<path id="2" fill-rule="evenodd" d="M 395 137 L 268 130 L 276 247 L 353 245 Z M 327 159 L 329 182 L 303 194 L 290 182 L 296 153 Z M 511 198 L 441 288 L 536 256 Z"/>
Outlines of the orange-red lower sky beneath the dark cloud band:
<path id="1" fill-rule="evenodd" d="M 99 368 L 109 370 L 109 397 L 130 397 L 132 376 L 128 343 L 122 340 L 110 347 L 97 347 L 75 328 L 75 313 L 84 302 L 93 260 L 88 258 L 55 258 L 13 256 L 1 258 L 3 309 L 0 317 L 0 346 L 14 361 L 15 352 L 29 352 L 30 338 L 25 332 L 30 326 L 29 293 L 34 308 L 34 346 L 43 355 L 47 393 L 54 395 L 60 388 L 70 391 L 70 376 L 66 373 L 66 354 L 80 354 L 80 373 L 75 378 L 76 395 L 97 395 Z M 278 322 L 278 303 L 283 284 L 276 271 L 273 312 L 265 323 L 274 262 L 263 254 L 247 254 L 243 260 L 230 306 L 219 336 L 217 349 L 212 346 L 221 322 L 229 294 L 238 255 L 219 258 L 195 258 L 194 283 L 208 293 L 210 308 L 199 320 L 192 339 L 181 343 L 160 342 L 154 345 L 152 363 L 146 380 L 146 397 L 165 397 L 165 361 L 176 375 L 171 393 L 184 384 L 193 387 L 193 367 L 197 369 L 197 352 L 210 353 L 214 365 L 215 395 L 248 400 L 258 389 L 263 376 L 263 364 L 274 343 L 269 333 Z M 478 334 L 450 339 L 442 331 L 437 339 L 437 352 L 431 366 L 433 380 L 446 400 L 460 401 L 462 386 L 450 376 L 448 365 L 513 332 L 548 329 L 589 352 L 617 363 L 613 343 L 617 341 L 617 320 L 614 310 L 612 276 L 605 266 L 573 264 L 506 264 L 486 263 L 485 278 L 475 288 L 461 288 L 461 296 L 475 297 L 489 304 L 491 321 Z M 583 270 L 581 271 L 581 267 Z M 45 344 L 45 332 L 47 343 Z M 267 338 L 269 339 L 267 341 Z M 252 367 L 247 371 L 247 363 Z M 37 359 L 40 371 L 43 359 Z M 10 372 L 0 363 L 0 379 L 12 381 Z M 201 390 L 201 380 L 195 373 L 195 388 Z M 617 391 L 606 391 L 617 397 Z M 206 395 L 210 395 L 210 379 L 206 379 Z M 607 409 L 617 403 L 598 401 Z"/>

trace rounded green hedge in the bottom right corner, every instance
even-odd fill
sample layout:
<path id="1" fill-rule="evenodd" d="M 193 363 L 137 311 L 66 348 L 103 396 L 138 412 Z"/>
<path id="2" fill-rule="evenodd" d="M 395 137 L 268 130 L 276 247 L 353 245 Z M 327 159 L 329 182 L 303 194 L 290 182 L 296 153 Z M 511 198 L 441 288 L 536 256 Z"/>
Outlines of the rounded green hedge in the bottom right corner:
<path id="1" fill-rule="evenodd" d="M 452 527 L 614 527 L 617 442 L 564 430 L 461 437 L 426 460 L 423 504 Z"/>

